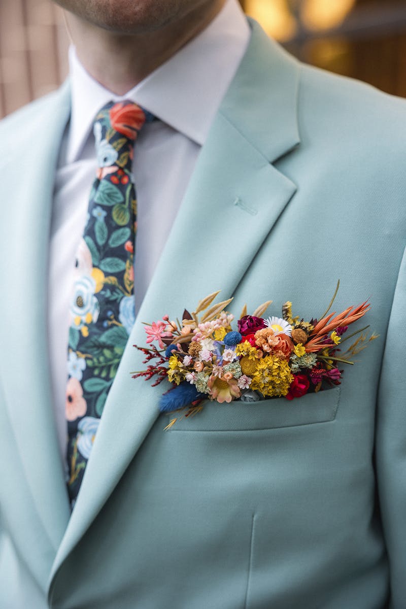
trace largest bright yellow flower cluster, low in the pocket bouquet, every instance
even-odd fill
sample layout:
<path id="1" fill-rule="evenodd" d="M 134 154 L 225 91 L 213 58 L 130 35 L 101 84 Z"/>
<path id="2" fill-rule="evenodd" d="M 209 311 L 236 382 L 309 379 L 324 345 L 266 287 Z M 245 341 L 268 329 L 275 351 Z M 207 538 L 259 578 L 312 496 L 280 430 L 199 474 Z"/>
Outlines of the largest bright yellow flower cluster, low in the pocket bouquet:
<path id="1" fill-rule="evenodd" d="M 292 381 L 289 362 L 270 354 L 257 360 L 251 389 L 270 397 L 286 395 Z"/>

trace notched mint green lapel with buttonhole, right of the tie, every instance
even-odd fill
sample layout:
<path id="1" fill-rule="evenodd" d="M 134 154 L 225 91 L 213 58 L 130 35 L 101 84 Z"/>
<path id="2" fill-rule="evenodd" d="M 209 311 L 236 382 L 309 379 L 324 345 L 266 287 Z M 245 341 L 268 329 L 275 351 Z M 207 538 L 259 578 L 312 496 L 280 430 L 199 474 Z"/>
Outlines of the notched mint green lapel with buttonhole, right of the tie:
<path id="1" fill-rule="evenodd" d="M 283 91 L 275 85 L 282 78 Z M 180 317 L 184 307 L 222 289 L 233 294 L 295 192 L 270 164 L 299 142 L 298 66 L 254 24 L 247 54 L 200 152 L 163 255 L 110 389 L 74 512 L 51 574 L 85 533 L 158 416 L 163 385 L 134 380 L 145 345 L 142 322 Z M 241 107 L 242 106 L 242 107 Z M 270 119 L 271 117 L 271 119 Z M 265 122 L 273 122 L 264 136 Z M 281 125 L 281 120 L 284 125 Z M 248 236 L 244 238 L 244 235 Z M 254 238 L 250 238 L 254 235 Z M 236 242 L 238 238 L 238 246 Z"/>

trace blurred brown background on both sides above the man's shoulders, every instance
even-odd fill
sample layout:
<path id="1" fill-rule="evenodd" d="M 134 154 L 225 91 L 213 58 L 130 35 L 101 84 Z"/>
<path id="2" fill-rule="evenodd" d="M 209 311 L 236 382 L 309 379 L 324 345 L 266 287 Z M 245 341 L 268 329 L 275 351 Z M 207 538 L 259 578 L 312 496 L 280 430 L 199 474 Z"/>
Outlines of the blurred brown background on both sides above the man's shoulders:
<path id="1" fill-rule="evenodd" d="M 240 0 L 301 60 L 406 97 L 406 0 Z M 0 116 L 66 76 L 68 38 L 51 0 L 0 0 Z"/>

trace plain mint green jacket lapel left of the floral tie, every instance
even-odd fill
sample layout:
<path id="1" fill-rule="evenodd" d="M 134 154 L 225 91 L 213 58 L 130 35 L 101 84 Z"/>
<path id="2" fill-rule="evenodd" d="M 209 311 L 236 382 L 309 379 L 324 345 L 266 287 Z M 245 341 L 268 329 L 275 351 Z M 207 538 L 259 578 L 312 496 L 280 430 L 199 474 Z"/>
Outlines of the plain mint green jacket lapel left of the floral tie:
<path id="1" fill-rule="evenodd" d="M 7 351 L 1 358 L 0 376 L 19 459 L 48 540 L 56 551 L 69 508 L 48 369 L 47 257 L 52 177 L 69 118 L 67 87 L 50 96 L 47 106 L 41 102 L 41 111 L 38 113 L 35 105 L 24 110 L 25 124 L 16 124 L 16 135 L 9 138 L 10 147 L 19 150 L 18 156 L 12 155 L 19 158 L 19 164 L 7 166 L 5 161 L 2 173 L 5 180 L 0 197 L 9 203 L 2 206 L 1 242 L 9 256 L 2 287 L 4 294 L 13 295 L 14 306 L 7 306 L 6 298 L 0 305 L 1 343 Z M 17 122 L 18 118 L 8 120 Z"/>

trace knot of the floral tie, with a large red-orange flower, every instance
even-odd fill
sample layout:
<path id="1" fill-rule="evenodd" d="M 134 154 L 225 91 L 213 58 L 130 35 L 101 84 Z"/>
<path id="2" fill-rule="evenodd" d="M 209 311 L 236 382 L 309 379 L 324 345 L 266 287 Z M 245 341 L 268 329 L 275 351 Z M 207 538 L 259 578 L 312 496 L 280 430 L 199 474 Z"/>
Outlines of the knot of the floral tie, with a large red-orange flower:
<path id="1" fill-rule="evenodd" d="M 114 164 L 127 169 L 131 166 L 133 146 L 145 122 L 151 115 L 134 102 L 109 102 L 96 115 L 93 132 L 99 169 Z"/>

